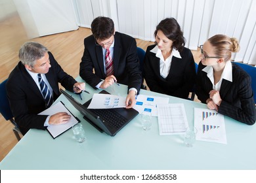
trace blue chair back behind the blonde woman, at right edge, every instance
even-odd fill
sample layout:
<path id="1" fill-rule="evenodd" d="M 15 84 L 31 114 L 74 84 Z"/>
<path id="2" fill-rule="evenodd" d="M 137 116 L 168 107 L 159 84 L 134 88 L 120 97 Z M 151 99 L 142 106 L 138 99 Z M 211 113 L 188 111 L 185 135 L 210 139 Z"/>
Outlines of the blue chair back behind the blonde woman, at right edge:
<path id="1" fill-rule="evenodd" d="M 251 76 L 251 88 L 253 90 L 254 103 L 256 104 L 256 67 L 247 65 L 245 63 L 234 62 L 244 69 L 246 73 Z"/>

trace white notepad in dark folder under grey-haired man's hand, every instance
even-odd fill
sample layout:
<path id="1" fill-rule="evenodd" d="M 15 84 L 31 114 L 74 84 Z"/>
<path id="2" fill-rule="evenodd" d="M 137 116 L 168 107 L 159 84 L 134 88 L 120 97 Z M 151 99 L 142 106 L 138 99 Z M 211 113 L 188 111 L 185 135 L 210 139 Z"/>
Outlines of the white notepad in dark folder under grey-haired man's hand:
<path id="1" fill-rule="evenodd" d="M 53 139 L 70 129 L 74 124 L 77 124 L 80 122 L 78 118 L 76 118 L 69 110 L 65 107 L 64 103 L 62 101 L 59 101 L 58 103 L 52 105 L 51 107 L 47 108 L 43 112 L 39 113 L 39 115 L 53 115 L 58 112 L 67 112 L 71 115 L 70 120 L 66 124 L 60 124 L 60 125 L 49 125 L 47 127 L 47 131 L 51 134 Z"/>

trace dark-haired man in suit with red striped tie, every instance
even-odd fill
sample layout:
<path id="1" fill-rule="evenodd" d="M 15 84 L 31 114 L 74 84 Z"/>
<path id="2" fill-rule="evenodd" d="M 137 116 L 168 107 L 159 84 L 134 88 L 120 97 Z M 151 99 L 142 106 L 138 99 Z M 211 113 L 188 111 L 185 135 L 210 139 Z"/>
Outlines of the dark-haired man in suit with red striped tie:
<path id="1" fill-rule="evenodd" d="M 108 17 L 95 18 L 91 31 L 93 35 L 84 40 L 81 78 L 95 89 L 108 88 L 115 82 L 126 84 L 126 106 L 133 107 L 142 81 L 135 39 L 116 32 L 113 20 Z"/>

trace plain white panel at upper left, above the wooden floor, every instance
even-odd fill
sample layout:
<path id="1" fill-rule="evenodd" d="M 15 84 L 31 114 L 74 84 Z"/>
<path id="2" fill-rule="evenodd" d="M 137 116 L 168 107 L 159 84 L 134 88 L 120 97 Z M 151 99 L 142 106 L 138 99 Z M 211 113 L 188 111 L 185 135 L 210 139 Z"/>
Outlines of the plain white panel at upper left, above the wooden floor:
<path id="1" fill-rule="evenodd" d="M 72 0 L 14 0 L 29 38 L 78 29 Z"/>

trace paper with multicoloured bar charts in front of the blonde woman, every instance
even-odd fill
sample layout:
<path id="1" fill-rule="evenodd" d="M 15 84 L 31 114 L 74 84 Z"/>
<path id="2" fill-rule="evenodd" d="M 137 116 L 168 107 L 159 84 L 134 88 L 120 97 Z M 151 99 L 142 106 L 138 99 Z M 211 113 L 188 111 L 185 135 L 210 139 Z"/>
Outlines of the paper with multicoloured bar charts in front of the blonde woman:
<path id="1" fill-rule="evenodd" d="M 198 129 L 197 141 L 226 144 L 224 116 L 216 110 L 194 108 L 194 125 Z"/>

